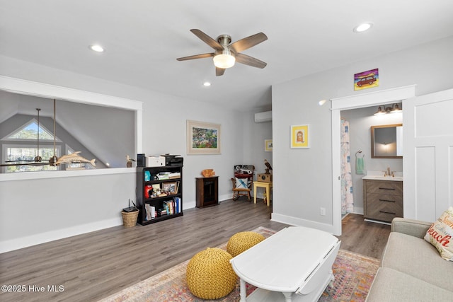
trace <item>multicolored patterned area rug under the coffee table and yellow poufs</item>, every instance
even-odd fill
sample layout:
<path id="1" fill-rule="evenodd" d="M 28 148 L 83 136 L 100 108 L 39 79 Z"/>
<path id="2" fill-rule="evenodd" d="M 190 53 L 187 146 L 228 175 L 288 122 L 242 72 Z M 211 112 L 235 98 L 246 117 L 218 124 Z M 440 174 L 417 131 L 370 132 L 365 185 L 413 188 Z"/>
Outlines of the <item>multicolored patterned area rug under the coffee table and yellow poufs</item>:
<path id="1" fill-rule="evenodd" d="M 253 230 L 265 238 L 272 236 L 275 231 L 259 227 Z M 226 250 L 226 243 L 219 248 Z M 164 272 L 154 275 L 144 281 L 134 284 L 127 289 L 101 300 L 102 302 L 142 302 L 142 301 L 207 301 L 190 294 L 185 281 L 185 269 L 189 260 L 171 267 Z M 379 260 L 359 255 L 347 250 L 340 250 L 333 264 L 335 281 L 323 292 L 320 302 L 365 301 L 369 286 L 379 268 Z M 256 289 L 247 284 L 247 295 Z M 228 296 L 214 301 L 239 301 L 239 279 L 236 289 Z"/>

